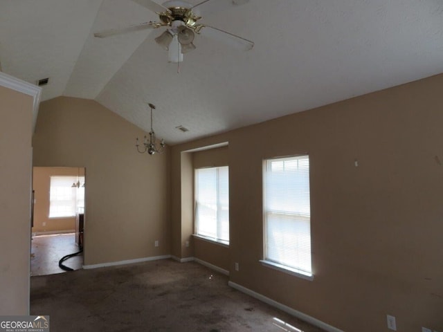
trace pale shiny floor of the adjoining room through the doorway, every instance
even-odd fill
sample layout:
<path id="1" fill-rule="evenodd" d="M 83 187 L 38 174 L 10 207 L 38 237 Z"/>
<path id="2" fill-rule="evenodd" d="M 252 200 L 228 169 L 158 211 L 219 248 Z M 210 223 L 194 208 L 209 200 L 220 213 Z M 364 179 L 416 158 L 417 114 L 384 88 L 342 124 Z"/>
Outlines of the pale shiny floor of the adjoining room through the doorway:
<path id="1" fill-rule="evenodd" d="M 65 255 L 78 252 L 75 233 L 38 235 L 31 240 L 30 274 L 53 275 L 64 273 L 58 262 Z M 74 270 L 82 268 L 83 255 L 77 255 L 64 261 L 65 266 Z"/>

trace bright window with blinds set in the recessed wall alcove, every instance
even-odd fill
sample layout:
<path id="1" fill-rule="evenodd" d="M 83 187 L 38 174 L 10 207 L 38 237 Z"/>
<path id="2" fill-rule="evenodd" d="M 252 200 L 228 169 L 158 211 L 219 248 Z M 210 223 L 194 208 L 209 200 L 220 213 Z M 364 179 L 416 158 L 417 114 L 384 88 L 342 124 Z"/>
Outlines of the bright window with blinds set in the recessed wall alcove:
<path id="1" fill-rule="evenodd" d="M 229 242 L 228 166 L 195 170 L 195 232 Z"/>

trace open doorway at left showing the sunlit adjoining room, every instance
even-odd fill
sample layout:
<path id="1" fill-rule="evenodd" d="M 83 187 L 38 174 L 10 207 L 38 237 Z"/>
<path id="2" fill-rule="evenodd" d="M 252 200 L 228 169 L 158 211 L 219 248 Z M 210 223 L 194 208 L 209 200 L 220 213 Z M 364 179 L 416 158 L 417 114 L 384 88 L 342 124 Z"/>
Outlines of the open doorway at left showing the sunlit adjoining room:
<path id="1" fill-rule="evenodd" d="M 84 167 L 33 167 L 31 275 L 66 272 L 83 266 Z"/>

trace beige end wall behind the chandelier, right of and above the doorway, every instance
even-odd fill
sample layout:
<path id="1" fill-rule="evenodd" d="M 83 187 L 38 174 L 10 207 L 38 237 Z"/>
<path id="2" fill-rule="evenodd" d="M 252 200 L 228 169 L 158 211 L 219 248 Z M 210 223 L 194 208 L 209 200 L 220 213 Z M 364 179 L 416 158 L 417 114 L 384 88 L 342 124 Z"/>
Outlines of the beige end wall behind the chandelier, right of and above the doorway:
<path id="1" fill-rule="evenodd" d="M 92 100 L 40 105 L 34 166 L 87 169 L 85 265 L 170 254 L 170 151 L 138 154 L 135 138 L 144 135 Z"/>

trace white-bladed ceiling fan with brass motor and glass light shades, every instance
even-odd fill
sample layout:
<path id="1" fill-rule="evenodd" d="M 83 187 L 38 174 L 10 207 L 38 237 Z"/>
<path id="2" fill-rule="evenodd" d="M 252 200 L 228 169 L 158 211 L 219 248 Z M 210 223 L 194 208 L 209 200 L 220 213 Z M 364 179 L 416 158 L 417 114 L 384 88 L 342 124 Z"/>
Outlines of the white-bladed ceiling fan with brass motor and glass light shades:
<path id="1" fill-rule="evenodd" d="M 163 5 L 152 0 L 132 0 L 159 15 L 159 21 L 149 21 L 121 29 L 110 29 L 94 33 L 94 37 L 104 38 L 132 31 L 167 27 L 159 37 L 157 44 L 168 50 L 168 61 L 179 63 L 183 61 L 183 54 L 195 50 L 193 44 L 195 35 L 205 35 L 218 39 L 241 50 L 251 50 L 254 43 L 224 30 L 201 24 L 198 21 L 201 15 L 209 12 L 219 12 L 233 6 L 247 3 L 249 0 L 205 0 L 196 5 L 186 1 L 166 1 Z"/>

